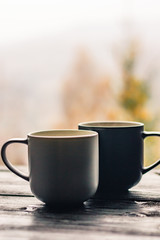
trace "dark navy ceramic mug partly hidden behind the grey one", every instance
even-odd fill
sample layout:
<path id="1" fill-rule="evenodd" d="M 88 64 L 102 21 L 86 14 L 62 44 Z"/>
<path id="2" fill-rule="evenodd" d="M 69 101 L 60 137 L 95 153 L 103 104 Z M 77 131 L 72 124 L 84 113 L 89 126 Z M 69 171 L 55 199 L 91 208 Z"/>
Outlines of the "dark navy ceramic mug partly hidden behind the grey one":
<path id="1" fill-rule="evenodd" d="M 160 164 L 143 168 L 143 140 L 160 136 L 159 132 L 144 131 L 138 122 L 85 122 L 79 129 L 94 130 L 99 134 L 98 195 L 108 191 L 125 191 L 136 185 L 142 175 Z"/>

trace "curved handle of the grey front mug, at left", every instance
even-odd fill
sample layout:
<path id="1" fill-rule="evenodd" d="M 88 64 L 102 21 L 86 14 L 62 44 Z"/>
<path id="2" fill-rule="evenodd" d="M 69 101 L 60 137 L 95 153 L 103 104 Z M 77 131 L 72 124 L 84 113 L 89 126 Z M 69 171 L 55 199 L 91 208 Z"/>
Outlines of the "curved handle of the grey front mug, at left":
<path id="1" fill-rule="evenodd" d="M 27 144 L 28 145 L 28 140 L 27 139 L 23 139 L 23 138 L 14 138 L 14 139 L 10 139 L 8 140 L 6 143 L 3 144 L 2 149 L 1 149 L 1 157 L 2 160 L 4 162 L 4 164 L 8 167 L 8 169 L 15 173 L 17 176 L 25 179 L 26 181 L 29 181 L 29 176 L 27 176 L 25 173 L 22 173 L 21 171 L 19 171 L 17 168 L 15 168 L 7 159 L 6 157 L 6 149 L 8 147 L 8 145 L 12 144 L 12 143 L 23 143 L 23 144 Z"/>

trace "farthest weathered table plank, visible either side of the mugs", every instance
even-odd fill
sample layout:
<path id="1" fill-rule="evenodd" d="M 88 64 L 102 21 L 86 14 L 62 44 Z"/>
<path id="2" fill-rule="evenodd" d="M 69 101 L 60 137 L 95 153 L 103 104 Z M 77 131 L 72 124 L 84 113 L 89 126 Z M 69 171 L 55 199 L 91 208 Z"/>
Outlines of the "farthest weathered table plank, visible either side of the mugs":
<path id="1" fill-rule="evenodd" d="M 24 170 L 24 167 L 21 168 Z M 29 183 L 4 168 L 0 168 L 0 195 L 32 196 Z M 125 194 L 108 194 L 106 199 L 160 201 L 160 170 L 155 170 L 143 176 L 138 185 Z"/>

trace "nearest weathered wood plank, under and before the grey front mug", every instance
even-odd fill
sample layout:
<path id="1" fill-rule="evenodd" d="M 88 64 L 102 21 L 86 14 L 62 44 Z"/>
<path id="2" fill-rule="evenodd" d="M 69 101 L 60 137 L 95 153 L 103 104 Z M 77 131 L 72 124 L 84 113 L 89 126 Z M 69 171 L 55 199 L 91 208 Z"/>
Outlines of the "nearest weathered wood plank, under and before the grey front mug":
<path id="1" fill-rule="evenodd" d="M 29 197 L 1 196 L 0 202 L 0 236 L 7 238 L 11 231 L 38 239 L 46 234 L 50 239 L 57 234 L 58 239 L 160 237 L 160 203 L 90 200 L 80 209 L 57 211 Z"/>

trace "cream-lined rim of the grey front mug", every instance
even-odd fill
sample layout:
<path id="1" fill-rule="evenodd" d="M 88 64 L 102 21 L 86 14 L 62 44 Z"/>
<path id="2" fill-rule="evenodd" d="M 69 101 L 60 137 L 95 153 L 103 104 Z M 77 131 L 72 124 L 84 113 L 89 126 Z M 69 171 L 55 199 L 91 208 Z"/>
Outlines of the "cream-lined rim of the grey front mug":
<path id="1" fill-rule="evenodd" d="M 97 136 L 98 133 L 92 130 L 80 130 L 80 129 L 49 129 L 40 130 L 36 132 L 28 133 L 28 137 L 32 138 L 49 138 L 49 139 L 62 139 L 62 138 L 86 138 Z"/>

